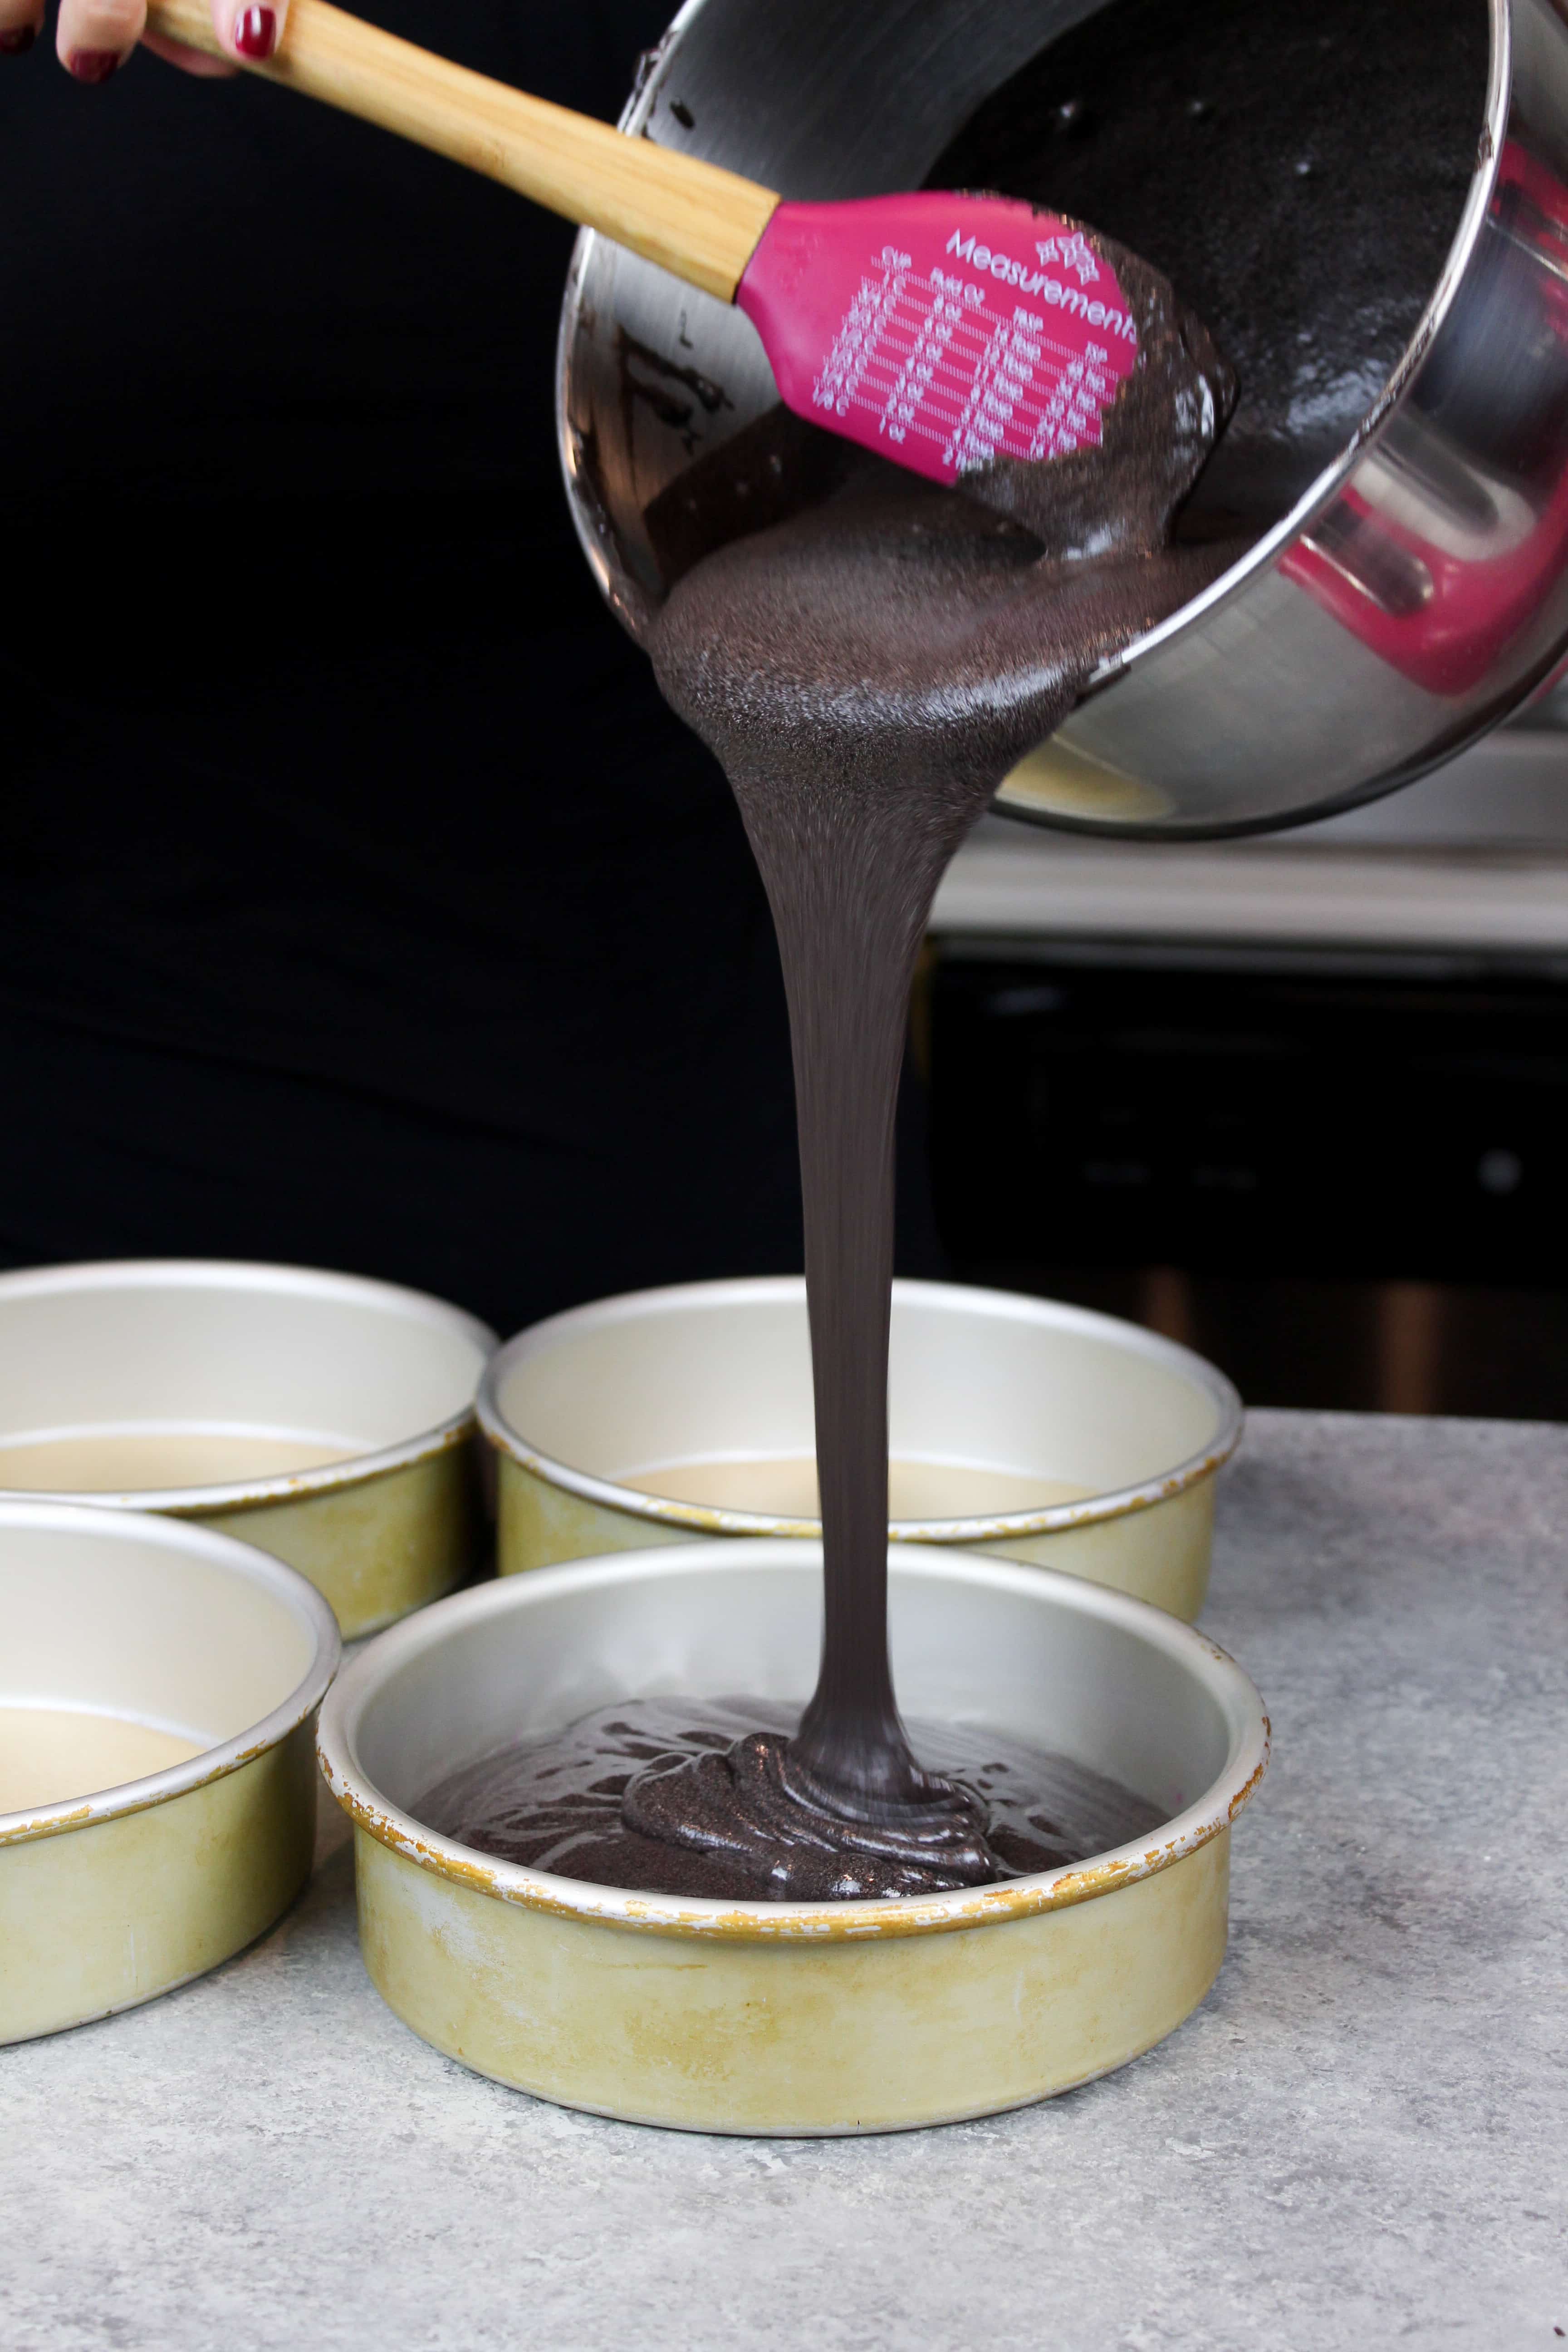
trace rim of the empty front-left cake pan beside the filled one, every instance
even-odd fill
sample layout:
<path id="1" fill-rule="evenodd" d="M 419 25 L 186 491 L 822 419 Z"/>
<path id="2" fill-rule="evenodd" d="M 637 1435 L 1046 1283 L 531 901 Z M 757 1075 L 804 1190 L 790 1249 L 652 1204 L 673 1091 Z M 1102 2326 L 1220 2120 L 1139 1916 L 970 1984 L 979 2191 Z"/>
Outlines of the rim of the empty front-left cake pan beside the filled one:
<path id="1" fill-rule="evenodd" d="M 273 1599 L 280 1599 L 313 1637 L 315 1653 L 287 1698 L 280 1698 L 275 1708 L 259 1717 L 259 1722 L 247 1724 L 244 1731 L 235 1731 L 233 1738 L 219 1740 L 214 1748 L 202 1748 L 197 1755 L 186 1757 L 183 1764 L 143 1773 L 139 1780 L 120 1780 L 115 1788 L 96 1790 L 87 1797 L 61 1797 L 56 1804 L 0 1813 L 0 1849 L 38 1837 L 59 1837 L 68 1830 L 92 1830 L 106 1820 L 122 1820 L 127 1813 L 146 1813 L 155 1804 L 169 1804 L 176 1797 L 188 1797 L 190 1790 L 207 1788 L 209 1780 L 223 1780 L 226 1773 L 240 1771 L 242 1764 L 252 1764 L 268 1748 L 287 1740 L 327 1696 L 343 1656 L 339 1621 L 315 1585 L 299 1569 L 273 1559 L 270 1552 L 261 1552 L 252 1543 L 237 1543 L 233 1536 L 221 1536 L 209 1526 L 183 1526 L 179 1519 L 139 1510 L 103 1512 L 85 1503 L 54 1503 L 45 1496 L 33 1501 L 0 1496 L 0 1541 L 7 1529 L 54 1529 L 63 1536 L 92 1536 L 103 1543 L 155 1543 L 165 1550 L 193 1552 L 197 1559 L 207 1559 L 230 1576 L 242 1576 L 247 1583 L 270 1592 Z"/>

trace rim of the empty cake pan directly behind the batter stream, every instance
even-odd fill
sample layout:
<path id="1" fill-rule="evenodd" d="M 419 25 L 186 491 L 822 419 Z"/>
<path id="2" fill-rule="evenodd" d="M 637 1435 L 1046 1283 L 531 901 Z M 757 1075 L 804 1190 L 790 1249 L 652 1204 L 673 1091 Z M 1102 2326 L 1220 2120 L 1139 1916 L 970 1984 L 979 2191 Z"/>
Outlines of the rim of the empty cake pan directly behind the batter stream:
<path id="1" fill-rule="evenodd" d="M 550 1486 L 599 1503 L 604 1510 L 621 1510 L 635 1519 L 656 1519 L 663 1526 L 689 1526 L 719 1531 L 724 1536 L 820 1536 L 820 1519 L 785 1519 L 757 1510 L 712 1510 L 703 1503 L 682 1503 L 670 1496 L 642 1494 L 637 1486 L 618 1486 L 614 1479 L 595 1477 L 590 1470 L 574 1470 L 569 1463 L 538 1451 L 501 1409 L 501 1383 L 522 1357 L 548 1345 L 564 1331 L 590 1331 L 595 1324 L 632 1322 L 639 1315 L 661 1315 L 665 1308 L 696 1305 L 724 1310 L 752 1301 L 804 1301 L 804 1275 L 743 1275 L 724 1282 L 675 1282 L 663 1289 L 621 1291 L 614 1298 L 595 1298 L 581 1308 L 567 1308 L 543 1322 L 517 1331 L 484 1367 L 475 1414 L 489 1444 L 515 1461 L 522 1470 Z M 1213 1477 L 1241 1444 L 1244 1406 L 1225 1374 L 1185 1348 L 1180 1341 L 1147 1331 L 1143 1324 L 1124 1322 L 1119 1315 L 1100 1315 L 1095 1308 L 1074 1308 L 1058 1298 L 1032 1298 L 1027 1291 L 997 1291 L 964 1282 L 893 1282 L 893 1303 L 961 1312 L 971 1301 L 992 1310 L 997 1319 L 1048 1324 L 1060 1331 L 1077 1331 L 1107 1345 L 1143 1355 L 1204 1390 L 1215 1409 L 1215 1435 L 1197 1454 L 1157 1470 L 1131 1486 L 1114 1486 L 1107 1494 L 1086 1496 L 1079 1503 L 1051 1503 L 1041 1510 L 997 1512 L 992 1517 L 966 1519 L 893 1519 L 889 1536 L 893 1543 L 1001 1543 L 1020 1536 L 1056 1536 L 1072 1526 L 1098 1526 L 1105 1519 L 1124 1519 L 1135 1510 L 1152 1510 L 1168 1503 L 1201 1479 Z"/>

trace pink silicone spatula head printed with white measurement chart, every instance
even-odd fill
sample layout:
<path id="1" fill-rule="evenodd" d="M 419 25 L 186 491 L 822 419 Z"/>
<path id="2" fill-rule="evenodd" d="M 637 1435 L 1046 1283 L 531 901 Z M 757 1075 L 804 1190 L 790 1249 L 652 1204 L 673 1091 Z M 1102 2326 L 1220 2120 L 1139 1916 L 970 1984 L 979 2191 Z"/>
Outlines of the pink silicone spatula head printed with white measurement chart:
<path id="1" fill-rule="evenodd" d="M 1138 367 L 1093 238 L 1001 195 L 780 205 L 736 303 L 788 407 L 947 485 L 1098 445 Z"/>

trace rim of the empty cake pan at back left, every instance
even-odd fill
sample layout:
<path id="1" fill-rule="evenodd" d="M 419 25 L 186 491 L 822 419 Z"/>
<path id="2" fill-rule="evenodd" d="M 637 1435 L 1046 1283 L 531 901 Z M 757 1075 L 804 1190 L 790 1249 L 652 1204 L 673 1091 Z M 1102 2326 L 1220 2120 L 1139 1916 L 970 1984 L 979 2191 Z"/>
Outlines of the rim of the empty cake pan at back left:
<path id="1" fill-rule="evenodd" d="M 501 1345 L 496 1331 L 470 1315 L 468 1308 L 451 1305 L 433 1291 L 416 1291 L 402 1282 L 378 1282 L 374 1275 L 339 1275 L 315 1265 L 275 1265 L 254 1258 L 85 1258 L 63 1265 L 26 1265 L 0 1275 L 0 1305 L 7 1298 L 42 1296 L 49 1291 L 99 1291 L 99 1289 L 252 1289 L 275 1294 L 313 1294 L 317 1298 L 360 1301 L 364 1305 L 395 1305 L 407 1322 L 425 1322 L 447 1331 L 458 1331 L 473 1341 L 480 1364 Z M 407 1470 L 461 1444 L 475 1428 L 473 1402 L 449 1414 L 428 1430 L 400 1437 L 397 1444 L 376 1446 L 371 1454 L 350 1454 L 336 1463 L 320 1463 L 315 1470 L 282 1470 L 273 1477 L 228 1479 L 212 1486 L 125 1486 L 118 1494 L 78 1494 L 73 1489 L 0 1486 L 0 1501 L 26 1501 L 31 1496 L 49 1503 L 82 1503 L 92 1510 L 162 1512 L 172 1519 L 200 1512 L 254 1510 L 263 1503 L 308 1503 L 317 1494 L 339 1494 L 346 1486 L 364 1486 L 390 1470 Z"/>

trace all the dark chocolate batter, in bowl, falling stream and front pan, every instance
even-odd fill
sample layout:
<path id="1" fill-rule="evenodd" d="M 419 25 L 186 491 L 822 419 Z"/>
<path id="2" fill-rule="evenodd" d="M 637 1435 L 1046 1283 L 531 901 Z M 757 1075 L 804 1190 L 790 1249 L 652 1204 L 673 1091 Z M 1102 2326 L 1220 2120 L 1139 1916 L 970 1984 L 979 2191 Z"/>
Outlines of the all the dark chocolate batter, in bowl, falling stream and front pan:
<path id="1" fill-rule="evenodd" d="M 1060 1759 L 976 1759 L 933 1729 L 922 1766 L 898 1719 L 886 1343 L 910 978 L 1006 771 L 1229 562 L 1206 539 L 1269 520 L 1366 414 L 1453 238 L 1483 78 L 1481 0 L 1392 0 L 1375 38 L 1363 0 L 1117 0 L 938 162 L 933 186 L 1131 230 L 1234 339 L 1237 456 L 1211 468 L 1190 543 L 1171 524 L 1234 381 L 1171 285 L 1093 230 L 1140 348 L 1098 449 L 954 494 L 771 416 L 649 513 L 668 583 L 654 670 L 724 762 L 790 1000 L 820 1679 L 792 1731 L 759 1703 L 609 1710 L 458 1773 L 425 1802 L 433 1825 L 574 1877 L 778 1900 L 978 1884 L 1152 1825 L 1098 1790 L 1107 1809 L 1074 1835 L 1048 1795 Z"/>

